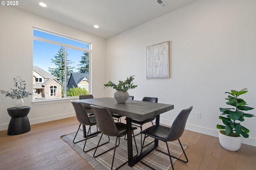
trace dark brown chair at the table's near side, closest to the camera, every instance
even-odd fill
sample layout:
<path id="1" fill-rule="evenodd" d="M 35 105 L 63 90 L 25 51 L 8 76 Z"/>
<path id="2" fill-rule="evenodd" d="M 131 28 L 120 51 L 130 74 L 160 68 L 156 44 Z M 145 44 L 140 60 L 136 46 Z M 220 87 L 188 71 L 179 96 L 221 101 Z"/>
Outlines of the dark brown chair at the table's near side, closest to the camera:
<path id="1" fill-rule="evenodd" d="M 102 135 L 105 134 L 107 136 L 116 136 L 116 143 L 114 148 L 114 155 L 113 155 L 113 159 L 112 159 L 112 165 L 111 165 L 111 170 L 113 169 L 113 164 L 114 164 L 114 158 L 115 158 L 115 153 L 116 153 L 116 146 L 118 146 L 120 144 L 120 136 L 123 136 L 125 134 L 127 134 L 127 126 L 124 123 L 120 123 L 120 122 L 114 122 L 111 113 L 108 111 L 107 108 L 105 107 L 99 107 L 99 106 L 94 106 L 91 105 L 92 111 L 94 112 L 94 116 L 98 125 L 98 128 L 100 129 L 100 131 L 102 132 Z M 137 129 L 136 127 L 132 127 L 132 134 L 133 134 L 133 130 Z M 102 138 L 102 135 L 100 136 L 100 140 Z M 134 134 L 133 134 L 134 137 Z M 100 140 L 98 142 L 98 145 L 100 144 Z M 117 144 L 117 140 L 118 140 L 118 145 Z M 135 146 L 136 146 L 136 150 L 137 150 L 137 154 L 138 155 L 138 148 L 136 145 L 136 141 L 135 141 L 135 137 L 134 137 L 134 142 L 135 142 Z M 108 152 L 109 150 L 113 149 L 110 148 L 109 150 L 106 150 L 98 155 L 96 154 L 96 150 L 97 150 L 98 146 L 96 147 L 95 151 L 94 151 L 94 158 L 96 158 L 97 156 L 100 156 L 106 152 Z M 128 161 L 127 161 L 128 162 Z M 125 162 L 124 164 L 126 164 L 127 162 Z M 124 164 L 120 165 L 118 168 L 122 167 Z M 116 168 L 116 169 L 118 169 Z"/>

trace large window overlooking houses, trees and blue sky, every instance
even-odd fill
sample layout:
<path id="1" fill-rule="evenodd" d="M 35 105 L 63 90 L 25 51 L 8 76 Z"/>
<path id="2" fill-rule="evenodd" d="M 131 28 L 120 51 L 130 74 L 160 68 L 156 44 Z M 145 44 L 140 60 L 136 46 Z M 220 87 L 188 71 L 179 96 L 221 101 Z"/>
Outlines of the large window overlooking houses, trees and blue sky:
<path id="1" fill-rule="evenodd" d="M 33 85 L 34 91 L 41 89 L 42 97 L 33 100 L 71 97 L 74 93 L 68 91 L 77 88 L 78 77 L 89 77 L 90 44 L 38 28 L 33 35 L 33 75 L 42 77 Z"/>

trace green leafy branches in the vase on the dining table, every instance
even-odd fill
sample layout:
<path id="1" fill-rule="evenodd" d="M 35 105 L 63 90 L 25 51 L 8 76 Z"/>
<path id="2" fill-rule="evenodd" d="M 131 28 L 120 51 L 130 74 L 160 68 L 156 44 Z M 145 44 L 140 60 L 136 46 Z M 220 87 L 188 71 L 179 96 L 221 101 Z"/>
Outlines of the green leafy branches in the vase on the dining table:
<path id="1" fill-rule="evenodd" d="M 131 75 L 130 77 L 127 77 L 125 81 L 119 81 L 119 83 L 116 85 L 112 81 L 108 81 L 108 83 L 104 84 L 105 87 L 113 87 L 113 89 L 116 90 L 122 90 L 122 91 L 128 91 L 129 89 L 134 89 L 137 87 L 137 85 L 134 85 L 132 81 L 134 80 L 135 75 Z M 104 89 L 105 89 L 104 87 Z"/>

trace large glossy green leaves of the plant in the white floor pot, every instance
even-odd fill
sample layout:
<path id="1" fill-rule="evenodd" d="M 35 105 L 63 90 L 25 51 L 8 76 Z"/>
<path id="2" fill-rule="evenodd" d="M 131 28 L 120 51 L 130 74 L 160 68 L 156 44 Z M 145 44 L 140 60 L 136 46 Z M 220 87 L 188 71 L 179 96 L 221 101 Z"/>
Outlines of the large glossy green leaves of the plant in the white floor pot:
<path id="1" fill-rule="evenodd" d="M 216 127 L 218 129 L 225 129 L 225 134 L 230 136 L 232 132 L 236 133 L 237 135 L 242 135 L 244 138 L 249 137 L 250 130 L 246 127 L 243 127 L 240 125 L 240 123 L 236 123 L 236 121 L 243 122 L 244 117 L 254 117 L 252 114 L 244 113 L 243 111 L 249 111 L 254 108 L 246 106 L 246 102 L 243 99 L 239 99 L 238 96 L 247 93 L 247 89 L 242 89 L 240 91 L 231 90 L 231 92 L 225 92 L 228 93 L 228 102 L 226 102 L 227 105 L 233 106 L 235 108 L 220 108 L 220 112 L 222 112 L 221 115 L 225 115 L 226 117 L 219 116 L 219 119 L 222 120 L 224 125 L 217 125 Z"/>

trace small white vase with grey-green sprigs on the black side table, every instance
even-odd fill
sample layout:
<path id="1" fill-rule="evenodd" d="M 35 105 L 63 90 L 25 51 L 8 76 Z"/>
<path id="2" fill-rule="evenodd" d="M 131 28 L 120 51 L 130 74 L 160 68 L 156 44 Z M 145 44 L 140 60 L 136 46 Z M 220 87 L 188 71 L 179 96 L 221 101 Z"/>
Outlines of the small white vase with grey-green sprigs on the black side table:
<path id="1" fill-rule="evenodd" d="M 20 108 L 23 106 L 23 98 L 32 95 L 32 93 L 25 91 L 26 90 L 26 81 L 23 81 L 21 77 L 13 78 L 14 88 L 11 88 L 11 91 L 0 90 L 2 94 L 6 97 L 12 97 L 12 99 L 16 98 L 15 106 L 16 108 Z"/>

